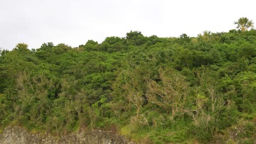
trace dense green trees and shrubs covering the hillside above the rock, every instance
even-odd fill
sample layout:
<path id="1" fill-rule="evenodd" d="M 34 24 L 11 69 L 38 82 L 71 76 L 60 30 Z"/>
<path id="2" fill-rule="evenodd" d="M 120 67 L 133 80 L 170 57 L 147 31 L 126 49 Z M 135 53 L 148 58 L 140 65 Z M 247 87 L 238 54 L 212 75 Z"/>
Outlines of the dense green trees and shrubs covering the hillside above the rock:
<path id="1" fill-rule="evenodd" d="M 101 44 L 18 44 L 0 56 L 0 125 L 65 133 L 117 128 L 133 140 L 207 143 L 255 121 L 256 30 L 190 38 L 131 31 Z"/>

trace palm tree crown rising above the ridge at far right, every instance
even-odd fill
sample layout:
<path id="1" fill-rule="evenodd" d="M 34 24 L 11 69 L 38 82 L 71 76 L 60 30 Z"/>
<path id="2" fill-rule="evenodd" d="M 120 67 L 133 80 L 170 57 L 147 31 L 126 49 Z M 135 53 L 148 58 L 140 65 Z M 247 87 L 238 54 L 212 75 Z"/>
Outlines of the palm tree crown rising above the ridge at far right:
<path id="1" fill-rule="evenodd" d="M 253 28 L 253 21 L 247 19 L 247 17 L 240 17 L 240 19 L 238 19 L 238 21 L 234 22 L 235 25 L 237 25 L 237 29 L 245 32 L 247 31 L 248 28 Z"/>

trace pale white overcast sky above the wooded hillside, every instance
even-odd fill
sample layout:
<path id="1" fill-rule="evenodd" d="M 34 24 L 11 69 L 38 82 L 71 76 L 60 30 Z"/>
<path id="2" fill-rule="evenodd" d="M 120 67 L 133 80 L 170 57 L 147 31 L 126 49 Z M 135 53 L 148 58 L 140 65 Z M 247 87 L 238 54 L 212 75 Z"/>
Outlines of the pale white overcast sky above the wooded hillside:
<path id="1" fill-rule="evenodd" d="M 228 32 L 234 21 L 256 22 L 256 1 L 240 0 L 0 0 L 0 47 L 29 49 L 53 42 L 72 47 L 130 31 L 158 37 Z"/>

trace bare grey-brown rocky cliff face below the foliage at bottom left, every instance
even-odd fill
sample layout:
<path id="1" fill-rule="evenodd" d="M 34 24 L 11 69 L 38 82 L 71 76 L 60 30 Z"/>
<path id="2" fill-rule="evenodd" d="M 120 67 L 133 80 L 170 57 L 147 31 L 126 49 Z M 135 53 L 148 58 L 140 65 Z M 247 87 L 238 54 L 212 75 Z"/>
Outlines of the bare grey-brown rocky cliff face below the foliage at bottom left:
<path id="1" fill-rule="evenodd" d="M 33 134 L 24 128 L 7 127 L 0 134 L 0 144 L 27 144 L 27 143 L 129 143 L 124 136 L 112 133 L 112 131 L 91 130 L 82 131 L 68 135 L 60 135 L 58 137 L 49 134 Z"/>

